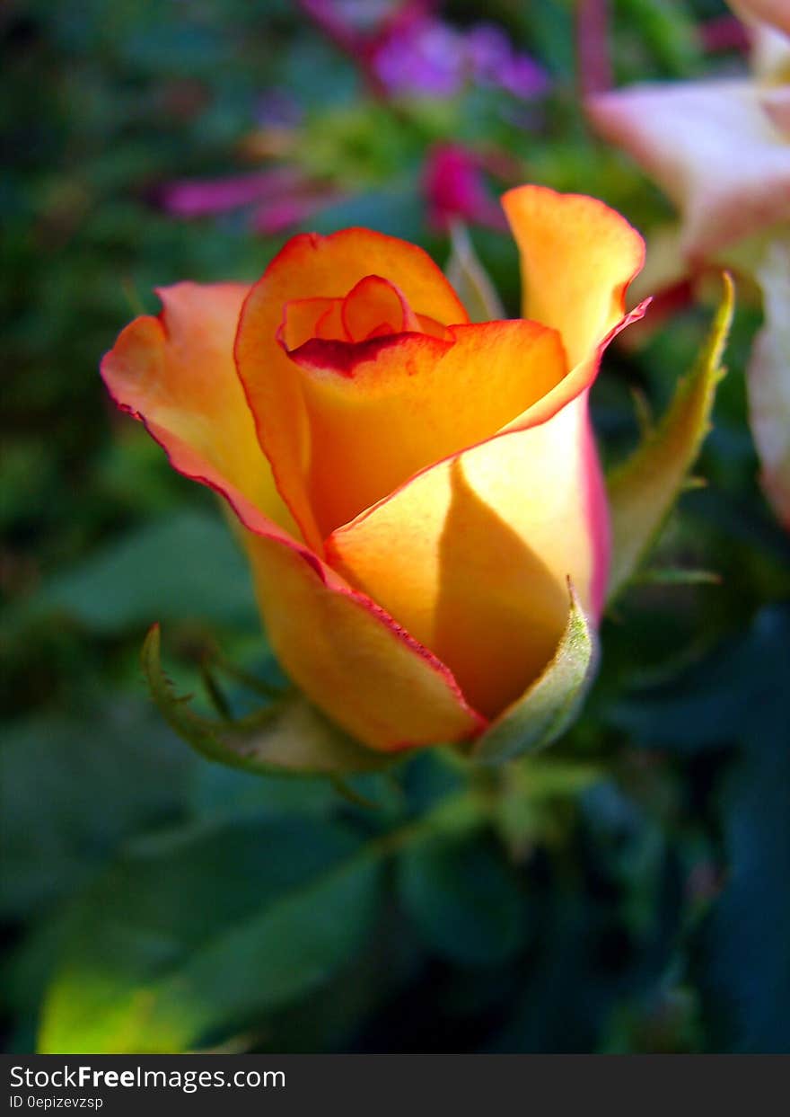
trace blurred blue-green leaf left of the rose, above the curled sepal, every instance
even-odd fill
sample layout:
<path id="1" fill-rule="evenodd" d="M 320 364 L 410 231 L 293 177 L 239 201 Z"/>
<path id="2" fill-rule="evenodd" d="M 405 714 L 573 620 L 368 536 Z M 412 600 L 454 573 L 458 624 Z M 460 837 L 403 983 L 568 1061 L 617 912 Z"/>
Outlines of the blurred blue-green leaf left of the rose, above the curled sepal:
<path id="1" fill-rule="evenodd" d="M 99 632 L 200 618 L 258 623 L 247 563 L 220 516 L 184 512 L 114 541 L 54 579 L 37 604 Z"/>

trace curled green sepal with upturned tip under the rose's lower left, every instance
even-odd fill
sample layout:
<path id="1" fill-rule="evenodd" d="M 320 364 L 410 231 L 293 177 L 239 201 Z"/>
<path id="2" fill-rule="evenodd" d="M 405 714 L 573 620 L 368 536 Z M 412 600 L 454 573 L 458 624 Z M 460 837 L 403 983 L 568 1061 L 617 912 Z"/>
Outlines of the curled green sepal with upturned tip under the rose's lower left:
<path id="1" fill-rule="evenodd" d="M 177 696 L 162 670 L 158 624 L 145 638 L 142 658 L 151 695 L 167 724 L 219 764 L 249 772 L 336 774 L 370 772 L 392 763 L 386 754 L 353 741 L 298 691 L 237 720 L 195 714 L 189 696 Z"/>

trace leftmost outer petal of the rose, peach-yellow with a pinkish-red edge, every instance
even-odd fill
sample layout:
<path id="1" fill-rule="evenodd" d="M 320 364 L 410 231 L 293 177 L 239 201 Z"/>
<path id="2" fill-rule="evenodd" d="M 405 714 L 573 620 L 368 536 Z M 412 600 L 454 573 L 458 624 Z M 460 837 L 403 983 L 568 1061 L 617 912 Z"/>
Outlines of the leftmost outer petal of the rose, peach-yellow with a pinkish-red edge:
<path id="1" fill-rule="evenodd" d="M 102 362 L 116 403 L 142 419 L 187 477 L 227 493 L 238 509 L 292 521 L 256 436 L 233 364 L 242 284 L 181 283 L 157 294 L 158 317 L 135 318 Z"/>

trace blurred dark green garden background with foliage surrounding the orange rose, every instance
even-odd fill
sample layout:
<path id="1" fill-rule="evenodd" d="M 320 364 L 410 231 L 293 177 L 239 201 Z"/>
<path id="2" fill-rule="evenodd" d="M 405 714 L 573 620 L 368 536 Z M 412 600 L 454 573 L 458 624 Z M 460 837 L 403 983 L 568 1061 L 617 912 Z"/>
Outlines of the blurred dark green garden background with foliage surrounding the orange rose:
<path id="1" fill-rule="evenodd" d="M 393 6 L 334 7 L 370 41 Z M 444 262 L 464 160 L 461 216 L 511 313 L 498 190 L 591 193 L 643 231 L 671 213 L 589 133 L 571 0 L 425 7 L 436 34 L 407 89 L 392 73 L 408 36 L 360 66 L 321 4 L 0 10 L 7 1050 L 790 1049 L 790 547 L 755 480 L 748 297 L 709 484 L 652 563 L 720 581 L 627 593 L 582 719 L 501 777 L 491 817 L 441 753 L 357 781 L 373 808 L 223 770 L 145 691 L 155 620 L 184 689 L 212 648 L 277 677 L 212 496 L 98 380 L 153 286 L 252 279 L 293 231 L 347 225 Z M 617 84 L 743 68 L 701 30 L 726 16 L 719 0 L 610 7 Z M 510 87 L 483 63 L 445 73 L 482 21 L 508 37 Z M 475 41 L 505 58 L 501 36 Z M 709 319 L 687 307 L 607 356 L 607 461 L 637 437 L 634 393 L 661 411 Z"/>

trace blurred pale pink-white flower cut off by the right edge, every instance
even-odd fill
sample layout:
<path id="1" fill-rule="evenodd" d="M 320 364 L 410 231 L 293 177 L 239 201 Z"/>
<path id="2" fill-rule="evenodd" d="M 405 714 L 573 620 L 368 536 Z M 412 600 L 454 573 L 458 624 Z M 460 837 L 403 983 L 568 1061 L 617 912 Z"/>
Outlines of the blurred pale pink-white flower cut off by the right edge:
<path id="1" fill-rule="evenodd" d="M 750 28 L 749 74 L 634 85 L 591 96 L 587 109 L 680 212 L 680 228 L 657 231 L 654 252 L 648 238 L 653 289 L 710 265 L 745 271 L 762 288 L 750 416 L 765 494 L 790 527 L 790 0 L 731 7 Z"/>

